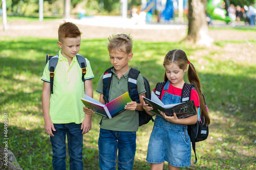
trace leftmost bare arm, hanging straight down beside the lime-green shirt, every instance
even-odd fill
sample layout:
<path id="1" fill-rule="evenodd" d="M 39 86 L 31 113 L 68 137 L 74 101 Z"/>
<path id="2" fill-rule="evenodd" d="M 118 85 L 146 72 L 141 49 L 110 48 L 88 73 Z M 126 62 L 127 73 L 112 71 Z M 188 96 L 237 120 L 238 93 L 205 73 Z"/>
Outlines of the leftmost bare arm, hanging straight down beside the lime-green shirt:
<path id="1" fill-rule="evenodd" d="M 42 87 L 42 112 L 44 113 L 45 120 L 45 131 L 48 135 L 54 136 L 52 130 L 55 131 L 52 120 L 50 118 L 50 91 L 51 86 L 50 83 L 45 82 Z"/>

